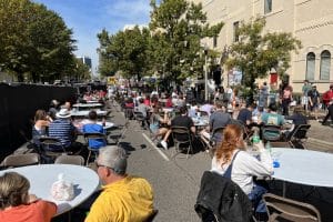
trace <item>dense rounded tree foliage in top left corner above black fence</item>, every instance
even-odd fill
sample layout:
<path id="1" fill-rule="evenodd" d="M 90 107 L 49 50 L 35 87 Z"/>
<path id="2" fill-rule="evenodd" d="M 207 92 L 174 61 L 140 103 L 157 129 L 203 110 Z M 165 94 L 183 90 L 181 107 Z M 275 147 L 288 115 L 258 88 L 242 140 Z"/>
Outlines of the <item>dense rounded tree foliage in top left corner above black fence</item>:
<path id="1" fill-rule="evenodd" d="M 32 81 L 60 79 L 74 67 L 72 31 L 43 4 L 0 0 L 0 65 Z"/>

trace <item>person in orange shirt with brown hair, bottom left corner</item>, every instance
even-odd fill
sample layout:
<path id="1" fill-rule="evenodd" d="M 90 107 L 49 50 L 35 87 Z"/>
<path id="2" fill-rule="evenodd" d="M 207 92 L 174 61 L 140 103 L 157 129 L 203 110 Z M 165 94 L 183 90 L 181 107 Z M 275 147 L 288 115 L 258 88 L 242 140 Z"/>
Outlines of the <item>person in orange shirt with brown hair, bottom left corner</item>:
<path id="1" fill-rule="evenodd" d="M 16 222 L 50 222 L 57 205 L 29 194 L 30 183 L 23 175 L 7 172 L 0 176 L 0 220 Z"/>

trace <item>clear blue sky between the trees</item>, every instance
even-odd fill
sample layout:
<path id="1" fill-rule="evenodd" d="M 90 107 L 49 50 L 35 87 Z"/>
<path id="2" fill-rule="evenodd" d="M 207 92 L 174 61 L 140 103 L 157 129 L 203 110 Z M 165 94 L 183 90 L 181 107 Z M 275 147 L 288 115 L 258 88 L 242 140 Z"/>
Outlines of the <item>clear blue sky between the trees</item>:
<path id="1" fill-rule="evenodd" d="M 92 59 L 94 72 L 98 65 L 97 34 L 105 28 L 109 33 L 122 30 L 125 24 L 148 24 L 150 0 L 33 0 L 56 11 L 73 30 L 78 57 Z"/>

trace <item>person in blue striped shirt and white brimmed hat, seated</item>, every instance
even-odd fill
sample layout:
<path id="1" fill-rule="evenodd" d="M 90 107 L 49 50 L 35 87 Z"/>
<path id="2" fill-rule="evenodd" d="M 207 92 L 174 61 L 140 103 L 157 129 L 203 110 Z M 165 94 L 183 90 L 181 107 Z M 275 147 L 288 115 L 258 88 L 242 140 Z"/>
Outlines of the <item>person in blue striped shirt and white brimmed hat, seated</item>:
<path id="1" fill-rule="evenodd" d="M 49 137 L 59 139 L 65 151 L 79 151 L 81 145 L 75 143 L 78 131 L 71 121 L 70 111 L 61 109 L 56 117 L 57 120 L 50 123 Z M 50 147 L 49 149 L 51 151 L 62 151 L 58 147 Z"/>

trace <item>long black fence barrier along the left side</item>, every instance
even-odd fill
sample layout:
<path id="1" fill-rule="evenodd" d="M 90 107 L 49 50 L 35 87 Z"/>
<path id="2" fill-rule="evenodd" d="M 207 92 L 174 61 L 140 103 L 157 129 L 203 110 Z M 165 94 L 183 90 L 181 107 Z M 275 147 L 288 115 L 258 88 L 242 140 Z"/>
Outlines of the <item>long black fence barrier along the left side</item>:
<path id="1" fill-rule="evenodd" d="M 77 99 L 71 87 L 0 83 L 0 161 L 31 139 L 34 112 L 49 110 L 51 100 L 60 102 Z"/>

